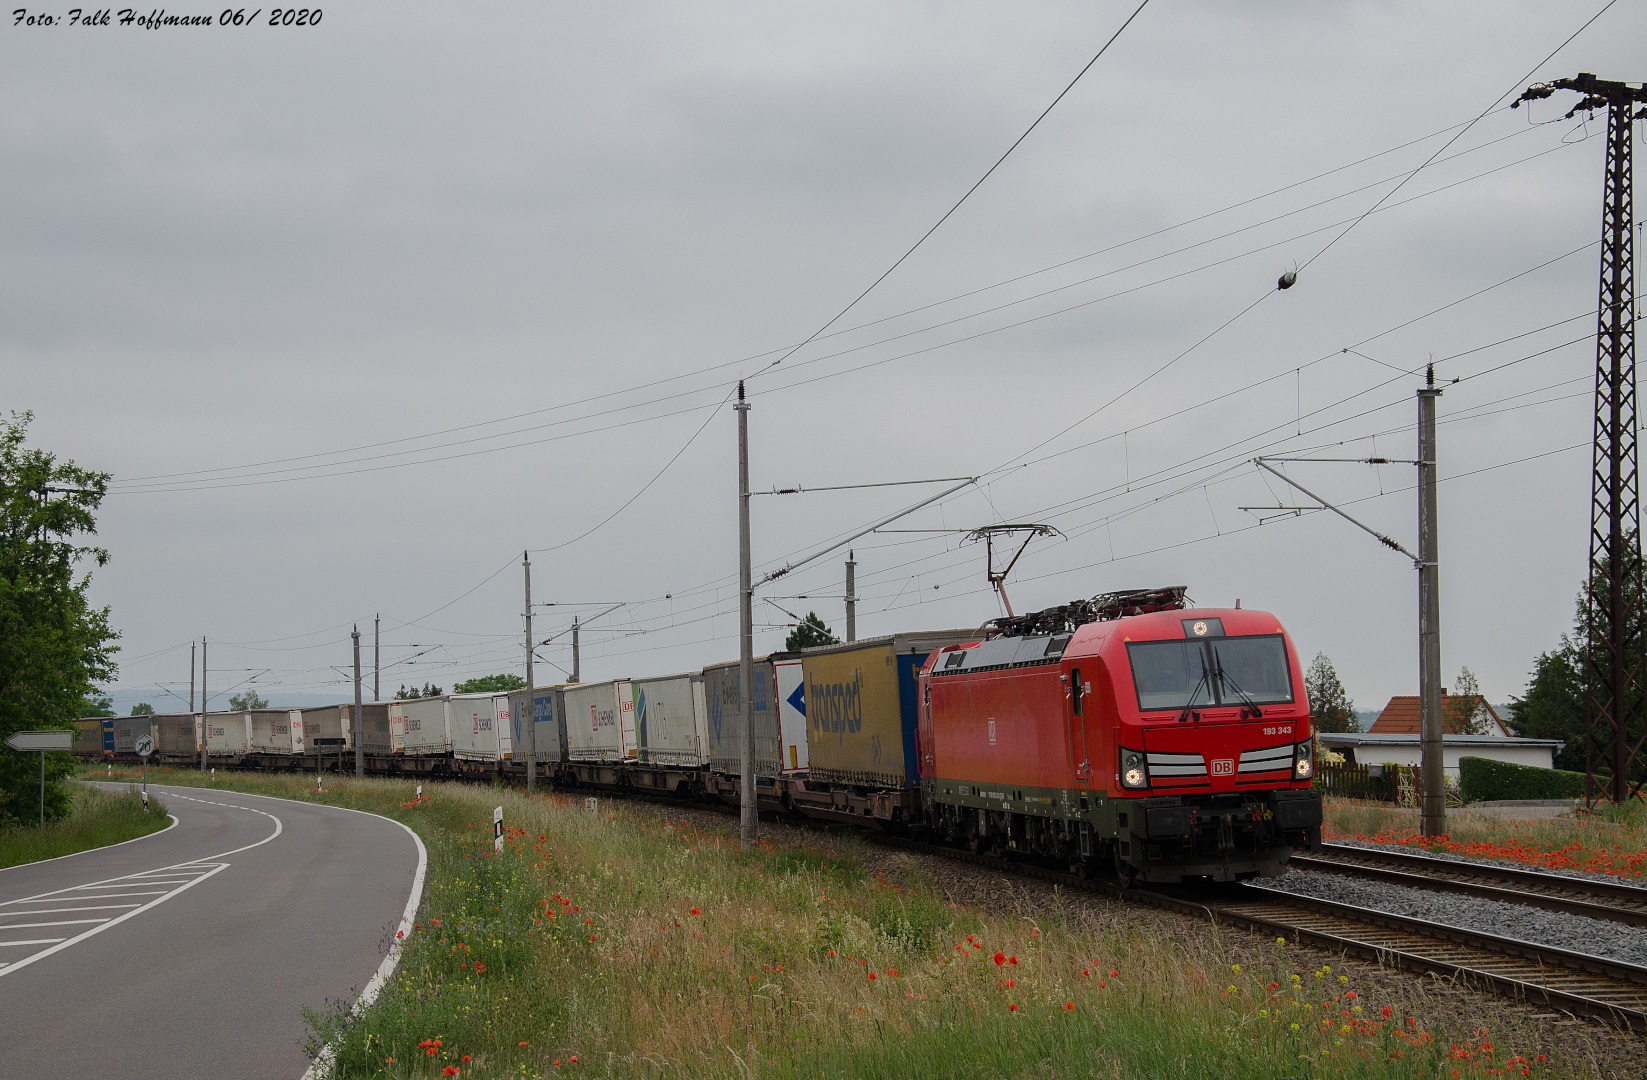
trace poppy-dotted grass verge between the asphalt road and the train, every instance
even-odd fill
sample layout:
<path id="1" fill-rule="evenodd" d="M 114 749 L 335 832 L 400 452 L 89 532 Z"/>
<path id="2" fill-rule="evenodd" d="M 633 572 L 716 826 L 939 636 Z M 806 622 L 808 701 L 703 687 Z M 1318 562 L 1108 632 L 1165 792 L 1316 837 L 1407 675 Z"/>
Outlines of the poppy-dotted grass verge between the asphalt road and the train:
<path id="1" fill-rule="evenodd" d="M 654 807 L 478 785 L 217 787 L 384 813 L 428 846 L 379 1001 L 306 1011 L 334 1077 L 1588 1075 L 1527 1024 L 1436 1029 L 1413 980 L 1171 920 L 959 907 L 868 874 L 861 845 L 741 853 Z"/>

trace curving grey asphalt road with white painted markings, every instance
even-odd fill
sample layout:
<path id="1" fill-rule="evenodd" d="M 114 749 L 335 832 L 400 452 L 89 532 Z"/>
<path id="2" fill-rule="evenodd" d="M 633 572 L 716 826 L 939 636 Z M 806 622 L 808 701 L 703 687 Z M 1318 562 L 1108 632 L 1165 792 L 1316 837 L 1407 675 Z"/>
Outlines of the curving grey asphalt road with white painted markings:
<path id="1" fill-rule="evenodd" d="M 377 973 L 415 838 L 336 807 L 148 790 L 176 825 L 0 871 L 0 1073 L 298 1080 L 301 1008 Z"/>

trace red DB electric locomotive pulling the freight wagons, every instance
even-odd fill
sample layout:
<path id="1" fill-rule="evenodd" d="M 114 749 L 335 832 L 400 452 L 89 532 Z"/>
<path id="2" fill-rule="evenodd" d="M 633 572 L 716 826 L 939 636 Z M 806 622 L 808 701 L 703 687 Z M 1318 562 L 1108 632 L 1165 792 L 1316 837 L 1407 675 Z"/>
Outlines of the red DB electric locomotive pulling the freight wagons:
<path id="1" fill-rule="evenodd" d="M 1321 845 L 1309 701 L 1263 611 L 1184 588 L 1000 619 L 921 668 L 929 828 L 1122 881 L 1280 874 Z"/>

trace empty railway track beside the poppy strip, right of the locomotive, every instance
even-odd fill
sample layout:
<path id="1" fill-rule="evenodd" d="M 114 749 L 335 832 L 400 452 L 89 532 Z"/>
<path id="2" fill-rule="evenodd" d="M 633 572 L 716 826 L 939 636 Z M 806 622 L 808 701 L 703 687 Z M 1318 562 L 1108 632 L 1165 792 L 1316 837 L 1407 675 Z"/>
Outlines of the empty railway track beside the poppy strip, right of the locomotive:
<path id="1" fill-rule="evenodd" d="M 1293 854 L 1290 866 L 1647 927 L 1647 889 L 1611 881 L 1347 845 L 1323 845 L 1321 854 Z"/>

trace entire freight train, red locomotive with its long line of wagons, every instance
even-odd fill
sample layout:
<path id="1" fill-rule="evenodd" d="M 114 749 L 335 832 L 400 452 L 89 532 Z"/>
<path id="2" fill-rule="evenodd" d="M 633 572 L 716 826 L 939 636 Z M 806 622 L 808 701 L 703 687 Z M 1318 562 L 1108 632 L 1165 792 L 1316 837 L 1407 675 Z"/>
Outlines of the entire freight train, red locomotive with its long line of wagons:
<path id="1" fill-rule="evenodd" d="M 1125 882 L 1275 876 L 1321 845 L 1303 667 L 1280 621 L 1110 593 L 975 631 L 758 657 L 763 810 L 1039 858 Z M 736 662 L 362 706 L 82 719 L 76 754 L 520 777 L 740 800 Z"/>

